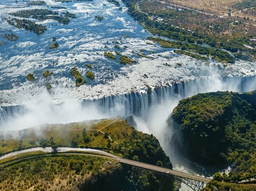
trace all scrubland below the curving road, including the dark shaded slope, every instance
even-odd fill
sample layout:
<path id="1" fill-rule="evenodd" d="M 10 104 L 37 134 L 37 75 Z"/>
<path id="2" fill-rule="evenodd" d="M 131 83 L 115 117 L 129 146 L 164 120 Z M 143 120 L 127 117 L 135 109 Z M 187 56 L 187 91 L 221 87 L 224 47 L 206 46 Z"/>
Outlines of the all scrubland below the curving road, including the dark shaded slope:
<path id="1" fill-rule="evenodd" d="M 86 155 L 43 154 L 0 167 L 1 190 L 152 190 L 160 180 L 162 190 L 172 190 L 172 177 L 135 173 L 115 160 Z"/>

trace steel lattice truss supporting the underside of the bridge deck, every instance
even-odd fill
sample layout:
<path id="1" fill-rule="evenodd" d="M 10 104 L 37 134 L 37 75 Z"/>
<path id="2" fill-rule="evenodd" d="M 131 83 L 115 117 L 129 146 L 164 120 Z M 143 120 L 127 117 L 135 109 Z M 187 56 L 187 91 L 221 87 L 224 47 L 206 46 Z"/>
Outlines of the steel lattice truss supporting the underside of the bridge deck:
<path id="1" fill-rule="evenodd" d="M 137 172 L 137 173 L 144 173 L 145 174 L 146 172 L 150 171 L 150 172 L 153 172 L 154 174 L 160 174 L 160 175 L 164 175 L 164 176 L 173 176 L 176 180 L 188 185 L 188 187 L 192 188 L 194 191 L 202 191 L 206 186 L 206 183 L 204 183 L 204 182 L 197 181 L 197 180 L 192 180 L 192 179 L 189 179 L 189 178 L 175 176 L 173 174 L 157 172 L 157 171 L 148 170 L 148 169 L 135 167 L 135 166 L 132 166 L 132 169 L 133 169 L 134 172 Z"/>

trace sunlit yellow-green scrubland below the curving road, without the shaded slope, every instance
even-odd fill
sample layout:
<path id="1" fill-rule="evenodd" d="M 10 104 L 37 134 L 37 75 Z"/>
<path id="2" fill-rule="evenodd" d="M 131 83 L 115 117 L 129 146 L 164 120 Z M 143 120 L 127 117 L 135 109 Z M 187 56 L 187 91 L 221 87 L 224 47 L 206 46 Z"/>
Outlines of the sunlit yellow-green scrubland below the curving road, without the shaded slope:
<path id="1" fill-rule="evenodd" d="M 2 168 L 0 189 L 11 190 L 74 190 L 77 184 L 96 172 L 108 172 L 117 168 L 110 159 L 79 156 L 54 155 L 29 159 Z"/>

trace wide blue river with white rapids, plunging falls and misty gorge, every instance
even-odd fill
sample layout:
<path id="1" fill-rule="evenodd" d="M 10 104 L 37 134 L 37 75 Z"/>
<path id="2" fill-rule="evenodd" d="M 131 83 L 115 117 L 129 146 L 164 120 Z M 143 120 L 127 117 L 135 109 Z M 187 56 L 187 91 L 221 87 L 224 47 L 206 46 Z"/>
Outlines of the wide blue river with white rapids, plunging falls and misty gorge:
<path id="1" fill-rule="evenodd" d="M 135 116 L 138 130 L 153 133 L 159 139 L 175 169 L 207 176 L 212 174 L 214 169 L 193 164 L 182 156 L 176 157 L 170 148 L 169 138 L 165 136 L 170 133 L 167 132 L 169 129 L 166 127 L 166 119 L 179 100 L 184 97 L 205 91 L 256 89 L 256 78 L 246 79 L 246 76 L 256 75 L 256 63 L 237 61 L 236 64 L 224 67 L 223 64 L 213 60 L 197 61 L 185 55 L 178 55 L 171 48 L 162 48 L 159 44 L 146 40 L 147 36 L 152 34 L 127 14 L 127 8 L 121 2 L 121 11 L 106 0 L 69 3 L 45 0 L 45 2 L 46 4 L 42 6 L 29 6 L 28 0 L 0 0 L 0 42 L 7 42 L 0 46 L 0 106 L 27 105 L 25 115 L 17 116 L 4 125 L 0 123 L 0 130 L 17 130 L 41 123 L 100 119 L 123 113 L 125 115 L 123 111 L 129 108 L 136 110 L 137 107 L 141 111 L 143 107 L 144 116 Z M 51 8 L 51 6 L 65 8 Z M 40 35 L 8 24 L 7 19 L 13 17 L 10 13 L 34 8 L 69 11 L 76 14 L 77 18 L 71 18 L 67 25 L 54 20 L 39 21 L 29 18 L 47 27 L 47 30 Z M 94 18 L 98 15 L 103 16 L 101 21 Z M 8 41 L 3 37 L 5 33 L 14 33 L 19 39 L 14 42 Z M 56 37 L 59 44 L 57 49 L 49 48 L 53 43 L 53 37 Z M 119 49 L 115 45 L 118 45 Z M 120 55 L 114 53 L 117 57 L 114 60 L 105 57 L 104 51 L 112 53 L 118 51 L 136 60 L 137 63 L 121 64 Z M 137 54 L 145 54 L 147 58 Z M 86 64 L 91 64 L 92 68 L 88 68 Z M 94 80 L 86 78 L 86 84 L 76 88 L 74 77 L 70 74 L 74 66 L 77 66 L 85 78 L 86 72 L 94 72 Z M 42 74 L 47 69 L 53 74 L 45 79 Z M 34 74 L 34 82 L 26 81 L 28 73 Z M 223 76 L 238 78 L 227 82 L 222 80 Z M 245 79 L 243 80 L 242 77 Z M 205 78 L 211 80 L 205 83 L 195 81 Z M 155 97 L 154 104 L 145 96 L 148 87 L 154 88 L 166 85 L 166 82 L 189 80 L 192 82 L 185 83 L 183 87 L 152 92 L 151 98 Z M 47 81 L 52 86 L 51 94 L 46 91 Z M 245 86 L 246 88 L 241 88 Z M 139 92 L 139 94 L 130 97 L 119 96 L 130 92 Z M 108 100 L 109 107 L 103 103 L 104 100 L 101 102 L 106 109 L 104 112 L 99 105 L 96 108 L 93 106 L 88 108 L 88 105 L 83 107 L 77 101 L 107 96 L 114 98 Z M 124 99 L 128 101 L 122 104 Z M 112 104 L 114 101 L 116 104 Z M 151 107 L 148 106 L 149 102 Z M 55 108 L 53 105 L 60 106 Z M 10 109 L 10 113 L 12 112 Z M 185 185 L 182 189 L 186 189 Z"/>

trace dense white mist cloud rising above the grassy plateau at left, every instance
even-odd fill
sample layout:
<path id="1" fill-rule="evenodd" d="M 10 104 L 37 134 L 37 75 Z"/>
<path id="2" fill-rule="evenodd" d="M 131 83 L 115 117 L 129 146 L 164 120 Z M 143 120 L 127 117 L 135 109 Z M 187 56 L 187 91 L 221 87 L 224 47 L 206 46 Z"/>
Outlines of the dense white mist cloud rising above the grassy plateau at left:
<path id="1" fill-rule="evenodd" d="M 10 117 L 7 122 L 3 123 L 4 125 L 0 125 L 0 130 L 20 130 L 46 123 L 65 124 L 109 117 L 108 113 L 100 113 L 94 105 L 83 107 L 79 100 L 68 97 L 64 97 L 60 104 L 55 105 L 48 92 L 28 101 L 25 111 L 25 113 Z"/>

